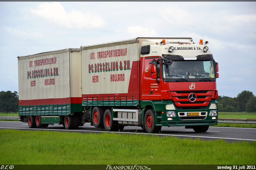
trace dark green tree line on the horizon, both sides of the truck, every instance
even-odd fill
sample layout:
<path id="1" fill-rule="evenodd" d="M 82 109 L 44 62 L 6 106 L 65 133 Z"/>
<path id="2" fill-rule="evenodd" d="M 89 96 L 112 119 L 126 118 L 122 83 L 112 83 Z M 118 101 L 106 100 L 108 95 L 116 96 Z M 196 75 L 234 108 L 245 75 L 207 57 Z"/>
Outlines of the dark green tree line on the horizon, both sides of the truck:
<path id="1" fill-rule="evenodd" d="M 251 91 L 242 91 L 237 97 L 219 96 L 219 112 L 256 112 L 256 97 Z M 17 113 L 19 110 L 18 92 L 0 92 L 0 112 Z"/>

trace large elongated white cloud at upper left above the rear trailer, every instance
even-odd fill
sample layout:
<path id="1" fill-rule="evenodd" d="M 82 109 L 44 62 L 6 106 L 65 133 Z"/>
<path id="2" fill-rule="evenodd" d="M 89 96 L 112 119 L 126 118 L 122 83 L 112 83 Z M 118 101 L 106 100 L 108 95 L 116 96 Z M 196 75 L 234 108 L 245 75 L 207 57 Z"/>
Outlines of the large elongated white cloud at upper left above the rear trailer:
<path id="1" fill-rule="evenodd" d="M 102 28 L 105 23 L 98 14 L 82 13 L 76 10 L 66 12 L 59 2 L 45 2 L 39 4 L 37 10 L 31 9 L 30 11 L 39 17 L 67 28 Z"/>

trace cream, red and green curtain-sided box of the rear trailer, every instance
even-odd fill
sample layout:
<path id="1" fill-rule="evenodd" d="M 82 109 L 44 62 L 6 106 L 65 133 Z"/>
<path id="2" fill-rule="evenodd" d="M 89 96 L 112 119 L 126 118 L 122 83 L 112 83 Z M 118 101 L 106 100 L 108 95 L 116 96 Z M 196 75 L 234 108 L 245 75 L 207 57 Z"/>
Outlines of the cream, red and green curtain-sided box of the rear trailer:
<path id="1" fill-rule="evenodd" d="M 70 114 L 70 103 L 81 103 L 80 70 L 80 49 L 19 56 L 20 114 Z"/>

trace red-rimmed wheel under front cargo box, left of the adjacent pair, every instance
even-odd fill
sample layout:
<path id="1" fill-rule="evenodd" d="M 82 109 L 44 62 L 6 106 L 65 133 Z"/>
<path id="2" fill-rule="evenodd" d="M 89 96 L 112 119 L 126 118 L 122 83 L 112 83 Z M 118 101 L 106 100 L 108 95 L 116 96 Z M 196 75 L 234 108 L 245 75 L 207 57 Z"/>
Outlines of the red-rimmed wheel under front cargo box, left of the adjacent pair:
<path id="1" fill-rule="evenodd" d="M 105 112 L 104 109 L 100 107 L 94 107 L 92 111 L 92 123 L 94 127 L 104 128 L 104 123 L 103 123 L 104 112 Z"/>

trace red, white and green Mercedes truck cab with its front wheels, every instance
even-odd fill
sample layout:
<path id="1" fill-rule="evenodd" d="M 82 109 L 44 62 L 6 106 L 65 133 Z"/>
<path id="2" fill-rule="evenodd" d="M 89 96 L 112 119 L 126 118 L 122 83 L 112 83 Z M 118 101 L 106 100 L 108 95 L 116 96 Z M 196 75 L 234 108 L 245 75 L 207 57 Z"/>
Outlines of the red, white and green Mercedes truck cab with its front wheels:
<path id="1" fill-rule="evenodd" d="M 144 109 L 148 132 L 161 126 L 206 132 L 218 124 L 218 63 L 207 44 L 184 38 L 142 46 L 141 107 L 152 108 Z"/>

